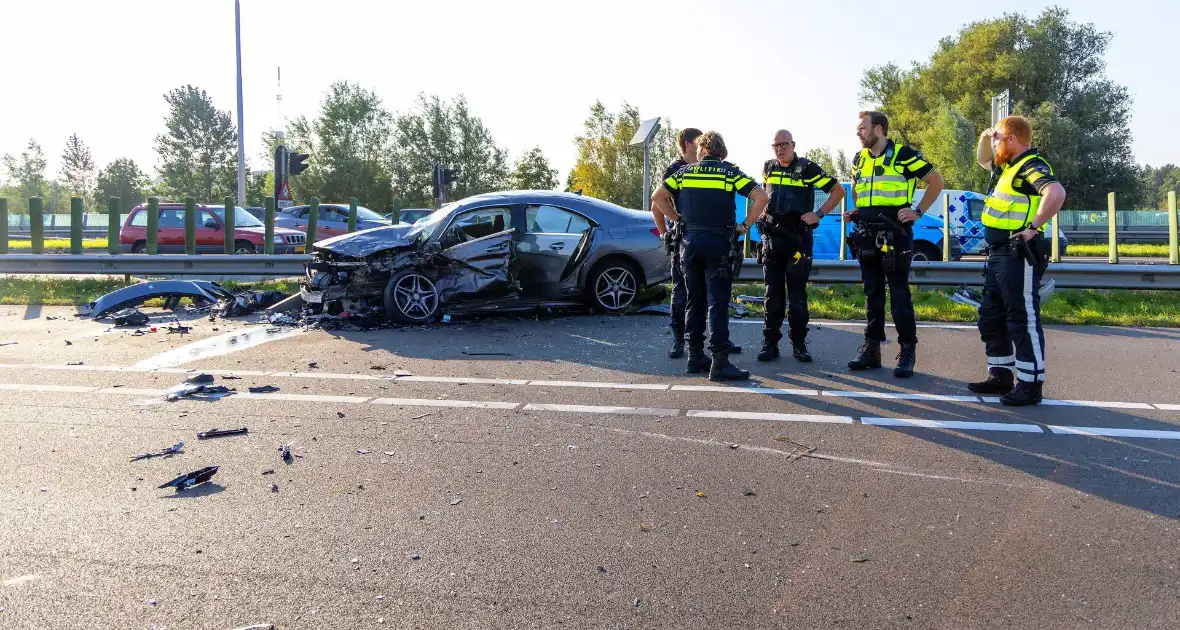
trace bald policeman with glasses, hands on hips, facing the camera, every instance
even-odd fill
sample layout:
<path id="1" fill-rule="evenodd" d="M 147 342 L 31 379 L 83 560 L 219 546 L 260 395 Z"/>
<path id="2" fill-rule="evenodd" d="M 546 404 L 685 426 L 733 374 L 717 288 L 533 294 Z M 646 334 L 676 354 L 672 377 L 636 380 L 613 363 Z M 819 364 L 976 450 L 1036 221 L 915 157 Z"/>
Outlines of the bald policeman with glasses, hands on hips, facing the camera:
<path id="1" fill-rule="evenodd" d="M 812 263 L 812 229 L 819 219 L 844 203 L 844 186 L 814 162 L 795 155 L 791 132 L 774 134 L 774 158 L 762 166 L 762 185 L 771 195 L 767 216 L 759 222 L 762 232 L 762 280 L 766 282 L 766 321 L 759 361 L 779 356 L 782 316 L 789 302 L 787 323 L 794 357 L 812 360 L 807 352 L 807 276 Z M 815 189 L 828 193 L 815 209 Z M 815 209 L 813 211 L 813 209 Z M 784 300 L 786 284 L 786 301 Z"/>

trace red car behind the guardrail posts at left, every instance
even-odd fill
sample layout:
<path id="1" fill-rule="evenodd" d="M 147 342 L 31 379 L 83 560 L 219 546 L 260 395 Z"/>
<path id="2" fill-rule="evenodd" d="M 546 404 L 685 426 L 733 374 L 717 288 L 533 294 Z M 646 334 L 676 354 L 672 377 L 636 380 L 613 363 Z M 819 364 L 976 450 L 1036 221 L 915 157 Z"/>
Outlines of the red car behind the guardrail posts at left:
<path id="1" fill-rule="evenodd" d="M 159 232 L 157 236 L 160 254 L 184 254 L 184 204 L 159 204 Z M 225 208 L 222 205 L 197 206 L 196 251 L 197 254 L 223 254 L 225 235 L 222 231 L 225 223 Z M 262 254 L 264 250 L 266 225 L 244 208 L 234 211 L 234 252 Z M 275 228 L 275 254 L 302 252 L 304 235 L 295 230 Z M 131 209 L 123 227 L 119 229 L 119 250 L 142 254 L 148 248 L 148 205 L 139 204 Z"/>

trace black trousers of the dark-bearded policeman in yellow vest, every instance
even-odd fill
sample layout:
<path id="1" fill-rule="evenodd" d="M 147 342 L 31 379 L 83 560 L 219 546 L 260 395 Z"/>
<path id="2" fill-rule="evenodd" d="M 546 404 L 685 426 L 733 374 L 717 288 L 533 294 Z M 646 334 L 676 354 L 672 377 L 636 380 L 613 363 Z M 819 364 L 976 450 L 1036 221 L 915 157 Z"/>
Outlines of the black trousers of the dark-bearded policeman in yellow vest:
<path id="1" fill-rule="evenodd" d="M 892 245 L 899 251 L 912 251 L 913 238 L 894 235 Z M 897 326 L 897 341 L 917 343 L 918 324 L 913 315 L 913 296 L 910 295 L 910 255 L 898 255 L 890 270 L 886 270 L 886 256 L 893 255 L 879 252 L 860 257 L 860 280 L 865 283 L 865 315 L 868 320 L 865 339 L 885 341 L 885 289 L 889 287 L 890 313 Z"/>

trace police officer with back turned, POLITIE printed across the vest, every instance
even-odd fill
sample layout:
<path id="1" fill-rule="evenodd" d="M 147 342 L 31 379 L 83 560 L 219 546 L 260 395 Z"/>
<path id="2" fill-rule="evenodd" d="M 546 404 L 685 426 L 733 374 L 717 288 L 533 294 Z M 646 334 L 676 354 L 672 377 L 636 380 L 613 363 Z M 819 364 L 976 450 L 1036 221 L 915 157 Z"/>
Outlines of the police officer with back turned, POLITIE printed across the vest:
<path id="1" fill-rule="evenodd" d="M 739 381 L 749 372 L 729 362 L 729 297 L 733 289 L 733 261 L 740 257 L 734 245 L 734 231 L 746 234 L 766 211 L 766 191 L 738 166 L 725 162 L 729 152 L 720 133 L 709 131 L 696 139 L 700 162 L 681 169 L 664 181 L 651 196 L 651 205 L 684 230 L 681 263 L 688 288 L 686 329 L 688 333 L 689 374 L 709 370 L 714 381 Z M 673 208 L 673 192 L 678 192 L 678 208 Z M 754 203 L 745 221 L 734 225 L 734 192 Z M 709 350 L 704 356 L 704 315 L 708 301 Z"/>

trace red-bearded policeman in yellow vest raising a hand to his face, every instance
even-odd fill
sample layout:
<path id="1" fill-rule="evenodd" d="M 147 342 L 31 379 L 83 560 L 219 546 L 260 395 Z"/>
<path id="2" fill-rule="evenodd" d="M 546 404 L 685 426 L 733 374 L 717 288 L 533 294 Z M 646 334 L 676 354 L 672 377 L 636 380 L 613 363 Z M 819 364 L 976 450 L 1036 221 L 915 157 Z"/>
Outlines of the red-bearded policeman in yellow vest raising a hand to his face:
<path id="1" fill-rule="evenodd" d="M 982 217 L 988 264 L 979 301 L 988 380 L 970 383 L 968 389 L 1004 394 L 999 401 L 1009 406 L 1041 402 L 1044 330 L 1037 287 L 1050 249 L 1043 230 L 1066 201 L 1066 189 L 1031 144 L 1028 120 L 1009 116 L 983 132 L 976 151 L 979 165 L 991 171 Z"/>

